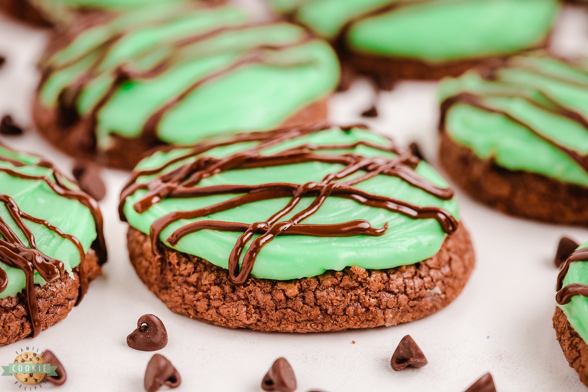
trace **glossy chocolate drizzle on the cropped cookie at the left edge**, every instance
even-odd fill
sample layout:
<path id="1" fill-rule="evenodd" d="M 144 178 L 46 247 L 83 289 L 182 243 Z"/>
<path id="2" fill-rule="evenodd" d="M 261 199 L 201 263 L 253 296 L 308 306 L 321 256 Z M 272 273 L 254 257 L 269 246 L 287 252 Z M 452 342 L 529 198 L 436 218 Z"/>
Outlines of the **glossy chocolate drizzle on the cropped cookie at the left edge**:
<path id="1" fill-rule="evenodd" d="M 4 146 L 2 146 L 4 147 Z M 5 148 L 5 147 L 4 147 Z M 2 160 L 9 162 L 16 167 L 25 166 L 24 163 L 18 160 L 10 159 L 8 157 L 2 157 Z M 68 199 L 76 200 L 83 206 L 87 207 L 92 216 L 94 217 L 96 225 L 96 239 L 92 243 L 92 249 L 98 257 L 99 264 L 106 262 L 106 244 L 103 235 L 103 220 L 102 214 L 98 209 L 98 203 L 85 193 L 71 189 L 65 182 L 64 176 L 55 169 L 52 163 L 46 160 L 39 160 L 36 166 L 46 167 L 51 169 L 52 176 L 35 176 L 26 175 L 24 173 L 17 172 L 16 170 L 9 169 L 8 167 L 0 167 L 0 172 L 4 172 L 11 177 L 16 177 L 24 180 L 41 180 L 44 181 L 57 195 L 66 197 Z M 16 202 L 8 195 L 0 195 L 0 202 L 4 203 L 4 206 L 8 210 L 14 224 L 26 237 L 27 244 L 22 243 L 18 235 L 11 229 L 11 226 L 0 217 L 0 261 L 10 267 L 22 270 L 25 274 L 25 297 L 28 307 L 28 313 L 31 317 L 31 329 L 32 337 L 38 336 L 41 333 L 41 320 L 39 318 L 39 311 L 36 304 L 35 295 L 35 270 L 39 275 L 46 280 L 51 282 L 64 274 L 64 263 L 60 260 L 52 259 L 46 254 L 42 253 L 38 249 L 35 243 L 35 237 L 31 230 L 26 226 L 25 221 L 36 223 L 37 225 L 45 226 L 46 229 L 58 234 L 58 236 L 69 240 L 78 249 L 80 263 L 78 267 L 79 274 L 79 293 L 76 305 L 82 300 L 82 297 L 88 290 L 88 276 L 86 276 L 85 269 L 85 252 L 82 244 L 79 240 L 71 234 L 62 232 L 58 227 L 51 225 L 44 219 L 28 215 L 23 212 L 16 205 Z M 0 292 L 4 291 L 8 286 L 8 276 L 4 270 L 0 269 Z"/>

